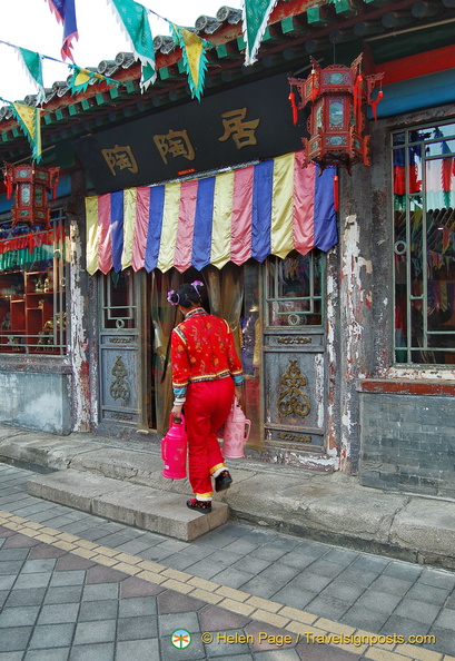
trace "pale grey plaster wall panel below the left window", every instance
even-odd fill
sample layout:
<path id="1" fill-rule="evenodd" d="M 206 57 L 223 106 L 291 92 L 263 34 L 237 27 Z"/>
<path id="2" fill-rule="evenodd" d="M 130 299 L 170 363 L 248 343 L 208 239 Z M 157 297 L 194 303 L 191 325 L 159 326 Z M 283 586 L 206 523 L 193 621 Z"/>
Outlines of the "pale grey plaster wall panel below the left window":
<path id="1" fill-rule="evenodd" d="M 46 372 L 0 372 L 0 421 L 51 434 L 70 434 L 71 376 Z"/>

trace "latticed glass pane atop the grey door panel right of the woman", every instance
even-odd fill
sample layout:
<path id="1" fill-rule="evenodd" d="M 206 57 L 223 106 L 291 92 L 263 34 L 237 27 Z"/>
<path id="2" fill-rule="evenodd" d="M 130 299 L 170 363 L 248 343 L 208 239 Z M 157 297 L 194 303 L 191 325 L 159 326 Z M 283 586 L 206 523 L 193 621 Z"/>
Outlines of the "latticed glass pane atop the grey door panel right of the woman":
<path id="1" fill-rule="evenodd" d="M 293 251 L 285 259 L 270 257 L 266 272 L 268 326 L 323 325 L 324 254 Z"/>

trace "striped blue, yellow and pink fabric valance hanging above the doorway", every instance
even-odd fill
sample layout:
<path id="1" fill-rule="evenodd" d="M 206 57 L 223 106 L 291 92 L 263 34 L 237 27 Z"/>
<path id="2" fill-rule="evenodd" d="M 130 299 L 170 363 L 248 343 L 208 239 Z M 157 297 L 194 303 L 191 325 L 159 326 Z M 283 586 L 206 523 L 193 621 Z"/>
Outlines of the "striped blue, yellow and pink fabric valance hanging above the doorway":
<path id="1" fill-rule="evenodd" d="M 335 167 L 303 151 L 212 177 L 86 198 L 87 270 L 180 273 L 269 255 L 327 251 L 337 241 Z"/>

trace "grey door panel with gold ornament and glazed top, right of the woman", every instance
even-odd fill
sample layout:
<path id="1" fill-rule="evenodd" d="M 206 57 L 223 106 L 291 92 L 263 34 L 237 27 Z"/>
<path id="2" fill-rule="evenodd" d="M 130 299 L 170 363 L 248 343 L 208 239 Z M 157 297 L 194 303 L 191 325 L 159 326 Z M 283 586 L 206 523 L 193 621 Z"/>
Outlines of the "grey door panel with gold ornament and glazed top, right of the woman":
<path id="1" fill-rule="evenodd" d="M 270 258 L 265 273 L 265 442 L 324 452 L 326 354 L 319 251 Z"/>

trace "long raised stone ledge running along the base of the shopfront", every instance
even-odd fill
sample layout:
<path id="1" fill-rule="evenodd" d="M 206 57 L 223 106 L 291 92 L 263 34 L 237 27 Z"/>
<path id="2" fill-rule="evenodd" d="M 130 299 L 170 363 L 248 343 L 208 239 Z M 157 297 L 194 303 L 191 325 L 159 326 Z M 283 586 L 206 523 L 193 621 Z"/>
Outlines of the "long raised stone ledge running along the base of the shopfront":
<path id="1" fill-rule="evenodd" d="M 0 461 L 2 457 L 16 465 L 71 468 L 123 485 L 175 492 L 181 494 L 184 507 L 191 494 L 187 480 L 162 477 L 159 444 L 147 436 L 137 441 L 78 433 L 56 436 L 0 425 Z M 319 473 L 245 458 L 228 460 L 227 464 L 234 484 L 215 499 L 227 503 L 240 521 L 347 549 L 455 569 L 453 500 L 369 489 L 340 472 Z"/>

